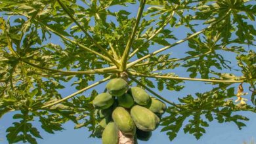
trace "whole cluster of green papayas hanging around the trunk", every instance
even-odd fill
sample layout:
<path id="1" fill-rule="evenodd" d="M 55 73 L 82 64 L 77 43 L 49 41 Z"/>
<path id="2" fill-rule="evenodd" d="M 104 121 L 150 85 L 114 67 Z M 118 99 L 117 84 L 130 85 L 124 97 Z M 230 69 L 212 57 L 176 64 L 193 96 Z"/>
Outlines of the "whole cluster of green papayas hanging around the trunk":
<path id="1" fill-rule="evenodd" d="M 129 88 L 121 78 L 108 82 L 106 90 L 93 99 L 95 114 L 101 120 L 94 135 L 102 138 L 103 144 L 117 144 L 119 131 L 135 137 L 135 141 L 148 141 L 165 112 L 165 103 L 150 97 L 142 88 Z"/>

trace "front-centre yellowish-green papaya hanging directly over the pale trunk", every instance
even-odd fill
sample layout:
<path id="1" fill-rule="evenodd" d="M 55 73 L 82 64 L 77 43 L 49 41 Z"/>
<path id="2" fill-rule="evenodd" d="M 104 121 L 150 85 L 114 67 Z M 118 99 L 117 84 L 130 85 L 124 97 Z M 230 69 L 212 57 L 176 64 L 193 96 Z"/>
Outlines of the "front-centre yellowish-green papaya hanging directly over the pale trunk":
<path id="1" fill-rule="evenodd" d="M 118 129 L 125 135 L 134 135 L 136 126 L 129 112 L 123 107 L 116 107 L 112 113 L 112 119 L 116 123 Z"/>

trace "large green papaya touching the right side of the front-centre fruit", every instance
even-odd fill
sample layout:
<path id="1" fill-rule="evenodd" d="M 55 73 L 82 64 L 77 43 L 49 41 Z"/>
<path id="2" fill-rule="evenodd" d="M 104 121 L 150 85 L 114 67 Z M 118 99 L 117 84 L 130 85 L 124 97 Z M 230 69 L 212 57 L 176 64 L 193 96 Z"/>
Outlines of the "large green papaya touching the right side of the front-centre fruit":
<path id="1" fill-rule="evenodd" d="M 131 108 L 131 117 L 137 128 L 143 131 L 152 131 L 158 127 L 160 118 L 146 107 L 135 105 Z"/>

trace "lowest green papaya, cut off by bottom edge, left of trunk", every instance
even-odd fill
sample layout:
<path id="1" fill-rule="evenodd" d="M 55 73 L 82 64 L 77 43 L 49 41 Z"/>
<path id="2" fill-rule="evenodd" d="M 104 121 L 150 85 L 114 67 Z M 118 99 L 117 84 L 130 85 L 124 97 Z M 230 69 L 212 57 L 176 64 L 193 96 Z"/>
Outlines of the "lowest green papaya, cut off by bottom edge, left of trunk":
<path id="1" fill-rule="evenodd" d="M 119 130 L 114 122 L 109 122 L 102 133 L 102 144 L 118 144 Z"/>

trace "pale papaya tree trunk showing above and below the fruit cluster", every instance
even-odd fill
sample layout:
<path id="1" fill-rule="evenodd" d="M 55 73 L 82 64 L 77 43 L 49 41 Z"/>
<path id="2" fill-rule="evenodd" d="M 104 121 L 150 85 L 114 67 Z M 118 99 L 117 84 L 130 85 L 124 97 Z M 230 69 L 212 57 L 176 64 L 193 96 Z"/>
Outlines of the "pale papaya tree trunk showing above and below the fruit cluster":
<path id="1" fill-rule="evenodd" d="M 128 74 L 123 72 L 120 74 L 120 77 L 125 81 L 128 81 Z M 135 144 L 134 137 L 132 135 L 124 135 L 121 131 L 119 131 L 119 143 L 118 144 Z"/>

